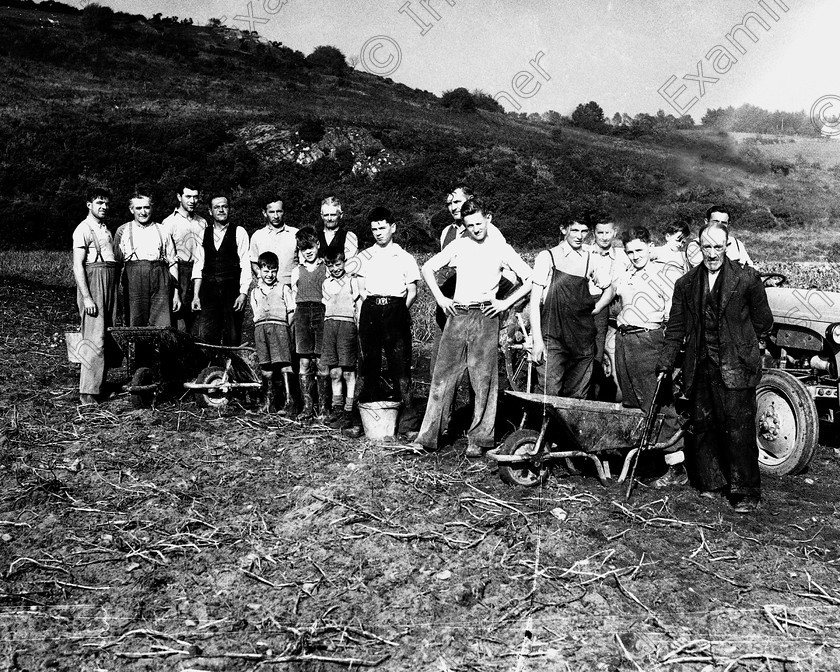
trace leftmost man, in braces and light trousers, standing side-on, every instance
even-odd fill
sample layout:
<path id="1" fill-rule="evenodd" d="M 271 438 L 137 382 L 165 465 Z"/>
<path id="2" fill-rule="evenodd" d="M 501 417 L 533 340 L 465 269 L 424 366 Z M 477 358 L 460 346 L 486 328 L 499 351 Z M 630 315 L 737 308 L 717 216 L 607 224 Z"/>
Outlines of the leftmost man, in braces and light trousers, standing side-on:
<path id="1" fill-rule="evenodd" d="M 83 406 L 96 404 L 102 391 L 105 339 L 117 316 L 118 265 L 111 232 L 105 226 L 110 201 L 107 189 L 91 189 L 87 217 L 73 231 L 73 275 L 82 319 L 82 338 L 75 355 L 82 364 L 79 401 Z"/>

